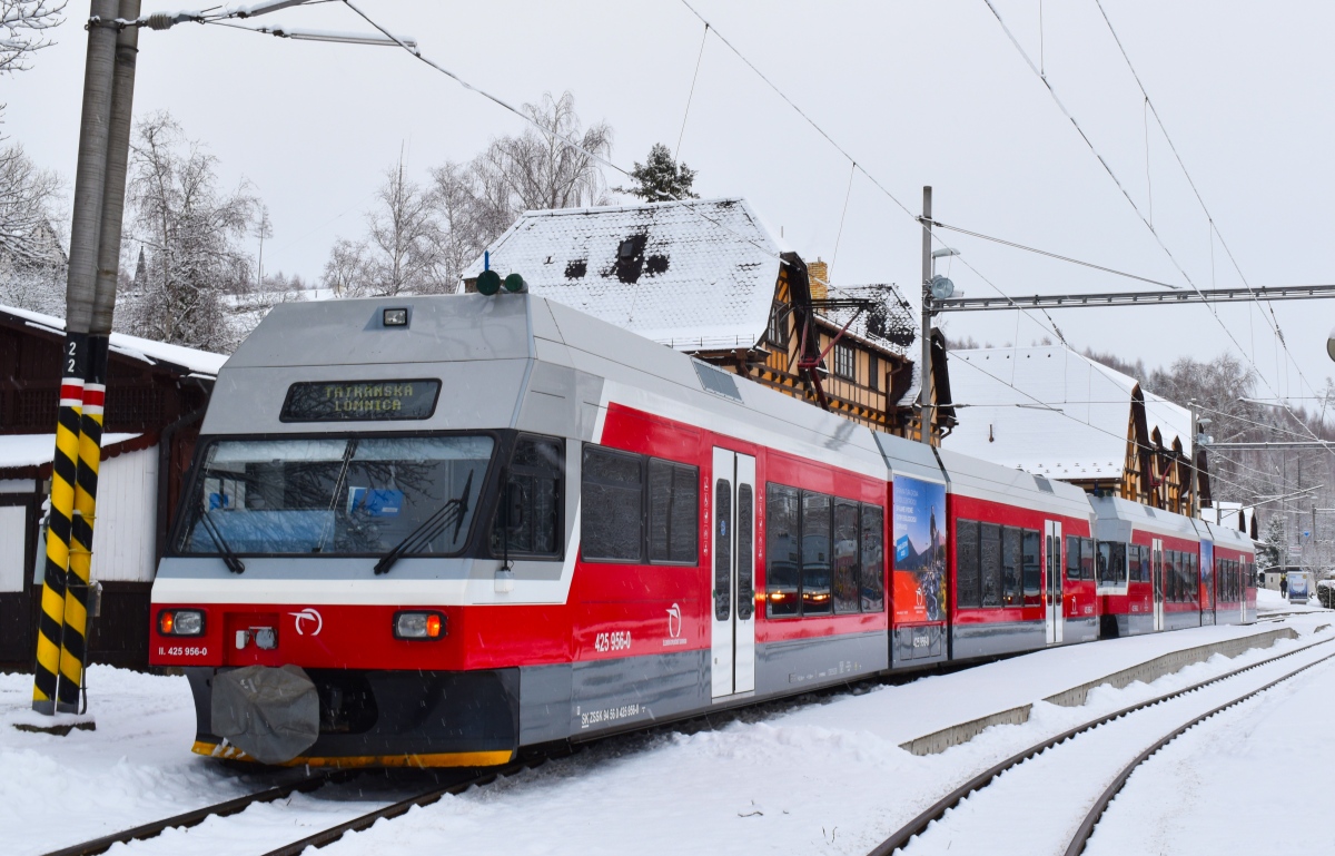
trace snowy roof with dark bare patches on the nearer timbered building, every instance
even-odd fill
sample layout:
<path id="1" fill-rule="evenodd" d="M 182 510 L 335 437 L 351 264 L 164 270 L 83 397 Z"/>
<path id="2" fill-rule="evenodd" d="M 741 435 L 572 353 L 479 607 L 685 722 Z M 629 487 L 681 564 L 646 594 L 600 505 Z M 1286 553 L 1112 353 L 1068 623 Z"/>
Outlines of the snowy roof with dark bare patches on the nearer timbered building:
<path id="1" fill-rule="evenodd" d="M 489 251 L 533 294 L 689 351 L 764 335 L 788 247 L 746 200 L 693 199 L 529 211 Z"/>

